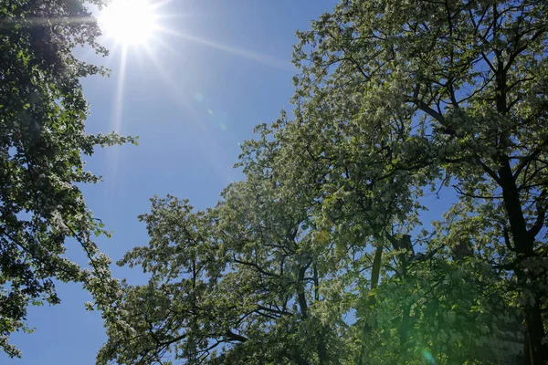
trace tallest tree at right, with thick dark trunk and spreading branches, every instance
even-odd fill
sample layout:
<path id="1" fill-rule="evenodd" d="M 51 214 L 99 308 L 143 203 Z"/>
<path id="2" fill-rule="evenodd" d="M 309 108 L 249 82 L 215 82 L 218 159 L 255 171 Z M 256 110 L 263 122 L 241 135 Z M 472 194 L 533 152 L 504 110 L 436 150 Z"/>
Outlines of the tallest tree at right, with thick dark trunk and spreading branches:
<path id="1" fill-rule="evenodd" d="M 342 2 L 300 33 L 295 57 L 296 102 L 309 118 L 363 127 L 388 170 L 435 166 L 425 183 L 453 183 L 467 208 L 482 207 L 492 227 L 484 260 L 512 277 L 533 364 L 548 359 L 547 10 L 536 1 Z M 316 117 L 320 103 L 337 108 Z"/>

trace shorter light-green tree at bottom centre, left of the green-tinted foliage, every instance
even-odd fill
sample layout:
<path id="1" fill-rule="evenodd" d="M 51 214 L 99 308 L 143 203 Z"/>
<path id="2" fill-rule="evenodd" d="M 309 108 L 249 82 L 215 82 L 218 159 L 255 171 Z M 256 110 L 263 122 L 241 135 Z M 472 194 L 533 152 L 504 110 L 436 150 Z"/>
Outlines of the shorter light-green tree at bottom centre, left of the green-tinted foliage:
<path id="1" fill-rule="evenodd" d="M 323 248 L 328 237 L 307 227 L 300 197 L 287 193 L 250 176 L 206 211 L 173 196 L 154 198 L 151 214 L 141 216 L 150 244 L 121 260 L 152 277 L 124 287 L 98 363 L 327 364 L 348 357 L 338 336 L 347 328 L 348 296 L 329 277 L 342 260 Z"/>

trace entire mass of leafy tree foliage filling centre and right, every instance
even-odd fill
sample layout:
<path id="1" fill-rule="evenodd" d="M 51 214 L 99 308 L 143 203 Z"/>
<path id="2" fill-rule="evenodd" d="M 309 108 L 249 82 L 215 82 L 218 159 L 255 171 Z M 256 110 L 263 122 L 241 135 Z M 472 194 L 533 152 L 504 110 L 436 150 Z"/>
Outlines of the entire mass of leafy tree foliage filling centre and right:
<path id="1" fill-rule="evenodd" d="M 294 118 L 216 208 L 153 200 L 99 362 L 544 363 L 547 13 L 344 0 L 298 32 Z M 430 230 L 428 190 L 458 198 Z"/>

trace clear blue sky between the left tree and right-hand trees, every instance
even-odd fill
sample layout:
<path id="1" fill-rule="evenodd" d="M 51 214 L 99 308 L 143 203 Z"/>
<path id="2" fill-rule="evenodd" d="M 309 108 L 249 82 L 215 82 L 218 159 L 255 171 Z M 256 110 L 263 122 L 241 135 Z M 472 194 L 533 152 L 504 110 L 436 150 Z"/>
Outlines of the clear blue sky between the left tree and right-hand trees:
<path id="1" fill-rule="evenodd" d="M 83 80 L 91 112 L 87 129 L 118 129 L 140 137 L 137 147 L 98 150 L 88 160 L 90 171 L 104 178 L 104 183 L 83 187 L 90 208 L 113 231 L 110 240 L 99 241 L 104 252 L 116 260 L 132 246 L 147 243 L 144 224 L 136 217 L 149 211 L 154 194 L 172 193 L 204 208 L 216 203 L 227 183 L 241 178 L 232 169 L 237 143 L 251 138 L 258 123 L 274 121 L 283 107 L 290 109 L 295 30 L 308 28 L 311 19 L 334 4 L 174 0 L 159 12 L 181 16 L 164 19 L 162 26 L 186 37 L 159 34 L 161 42 L 150 43 L 153 57 L 142 47 L 130 48 L 121 98 L 120 48 L 105 59 L 77 51 L 112 70 L 110 78 Z M 82 262 L 79 247 L 68 246 L 69 255 Z M 116 268 L 114 274 L 142 279 L 138 269 Z M 106 339 L 100 314 L 84 309 L 90 296 L 79 285 L 59 285 L 58 292 L 60 305 L 29 309 L 35 333 L 12 337 L 23 359 L 0 354 L 0 363 L 94 363 Z"/>

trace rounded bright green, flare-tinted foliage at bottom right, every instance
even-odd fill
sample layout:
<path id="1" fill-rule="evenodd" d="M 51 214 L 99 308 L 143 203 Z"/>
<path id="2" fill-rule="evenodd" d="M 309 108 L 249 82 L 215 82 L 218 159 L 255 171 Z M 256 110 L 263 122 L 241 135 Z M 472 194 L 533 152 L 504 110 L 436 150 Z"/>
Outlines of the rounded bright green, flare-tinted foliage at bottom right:
<path id="1" fill-rule="evenodd" d="M 511 364 L 521 358 L 522 318 L 508 286 L 471 252 L 454 255 L 451 247 L 466 229 L 437 229 L 427 254 L 407 255 L 405 267 L 358 300 L 355 363 Z"/>

